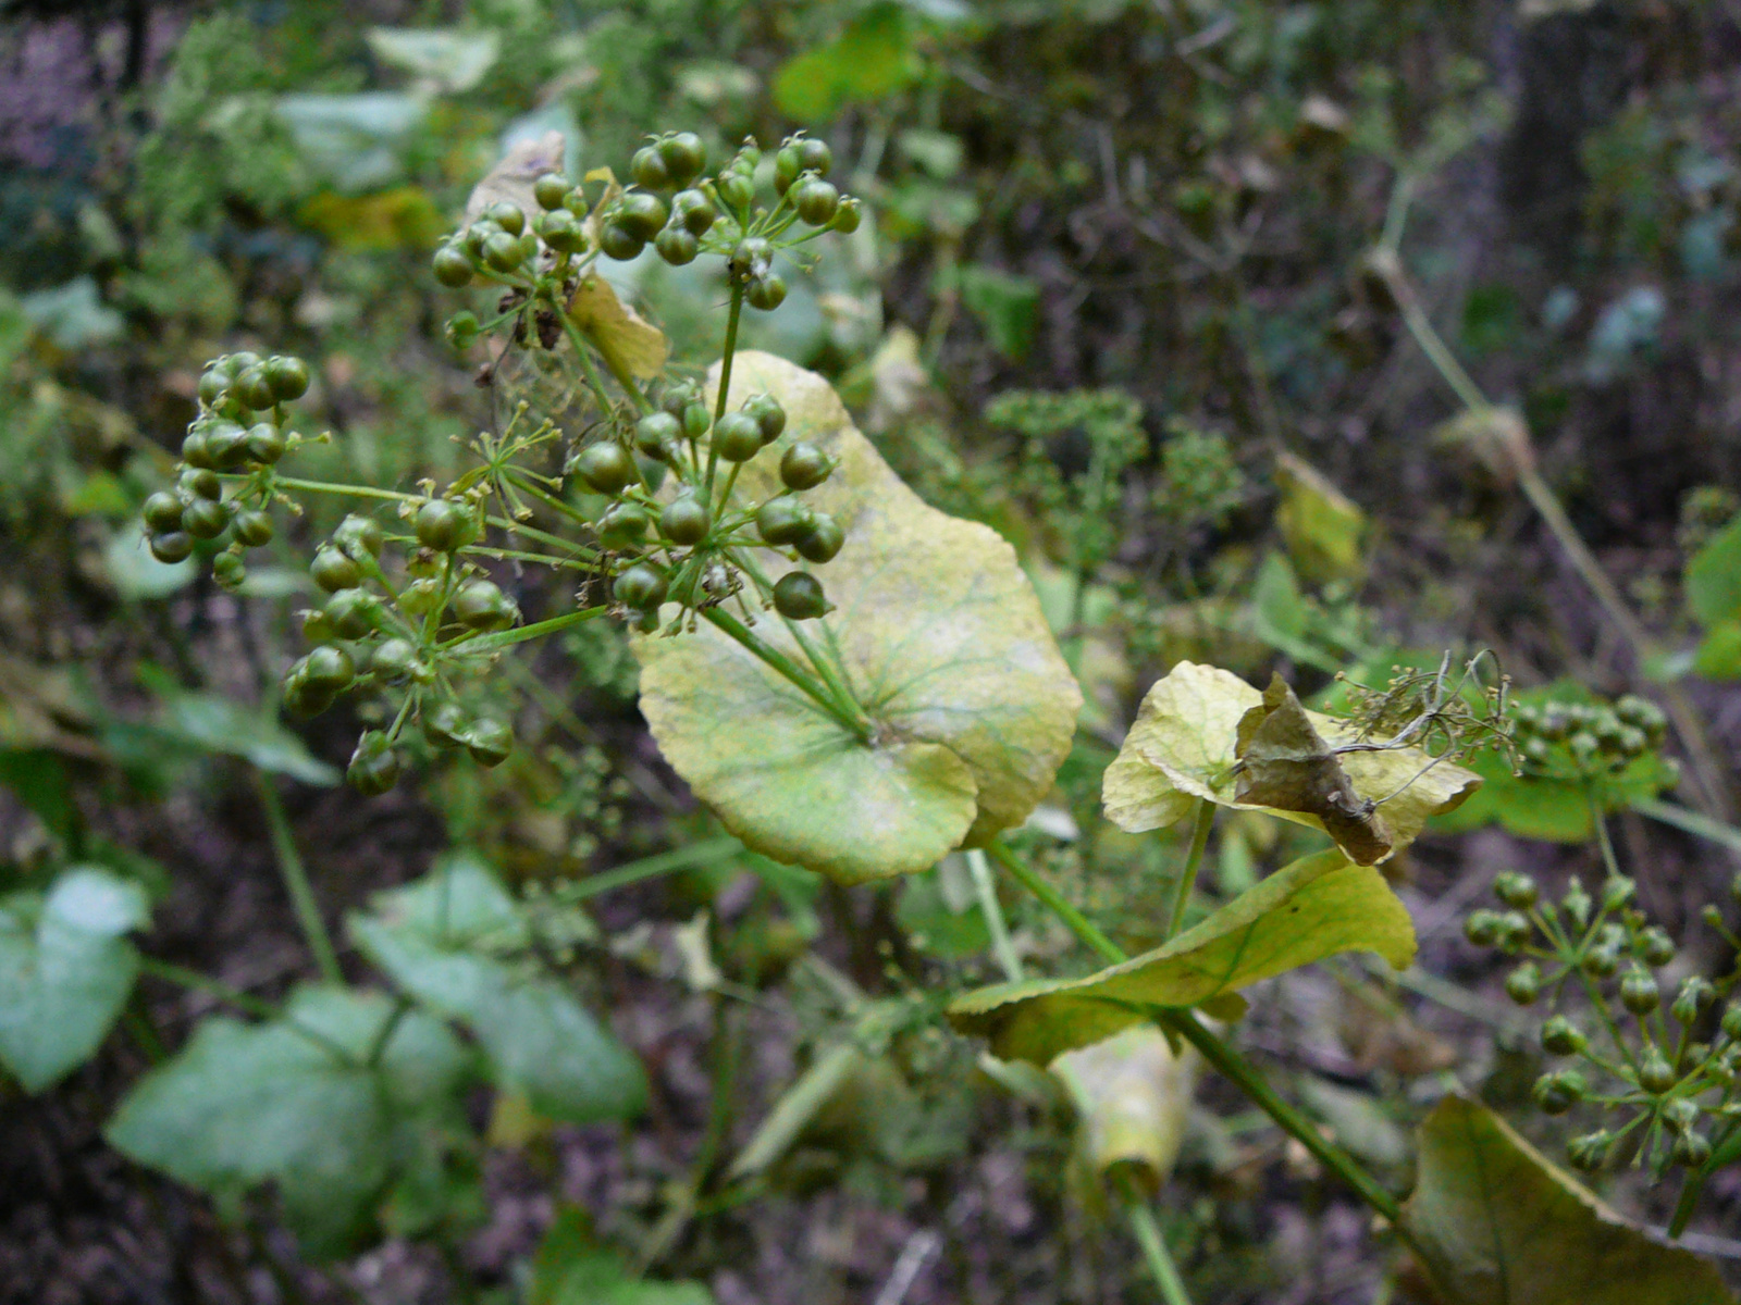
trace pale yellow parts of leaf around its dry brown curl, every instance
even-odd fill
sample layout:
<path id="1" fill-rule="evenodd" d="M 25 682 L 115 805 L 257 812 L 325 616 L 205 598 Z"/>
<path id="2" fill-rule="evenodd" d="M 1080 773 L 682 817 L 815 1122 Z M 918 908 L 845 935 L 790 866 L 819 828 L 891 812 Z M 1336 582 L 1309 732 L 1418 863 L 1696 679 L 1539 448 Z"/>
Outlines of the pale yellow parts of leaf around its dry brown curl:
<path id="1" fill-rule="evenodd" d="M 1435 762 L 1419 748 L 1339 752 L 1335 760 L 1361 802 L 1374 802 L 1382 820 L 1388 851 L 1379 851 L 1358 830 L 1328 828 L 1323 814 L 1269 806 L 1240 797 L 1240 722 L 1262 708 L 1264 694 L 1238 675 L 1215 666 L 1180 661 L 1149 689 L 1137 722 L 1102 778 L 1106 816 L 1130 833 L 1163 828 L 1184 818 L 1198 799 L 1247 811 L 1267 811 L 1281 820 L 1325 830 L 1354 860 L 1382 860 L 1402 851 L 1429 816 L 1452 811 L 1482 783 L 1482 776 L 1452 762 Z M 1349 727 L 1318 712 L 1306 722 L 1328 743 L 1348 745 Z M 1271 795 L 1273 793 L 1264 793 Z"/>

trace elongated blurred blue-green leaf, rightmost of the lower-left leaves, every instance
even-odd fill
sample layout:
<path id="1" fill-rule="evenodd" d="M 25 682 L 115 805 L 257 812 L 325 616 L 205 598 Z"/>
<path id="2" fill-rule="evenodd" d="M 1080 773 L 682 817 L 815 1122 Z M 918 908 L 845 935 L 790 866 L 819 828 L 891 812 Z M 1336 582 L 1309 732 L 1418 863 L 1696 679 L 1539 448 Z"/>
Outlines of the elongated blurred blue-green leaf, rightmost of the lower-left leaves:
<path id="1" fill-rule="evenodd" d="M 350 933 L 406 992 L 465 1023 L 496 1081 L 538 1114 L 590 1124 L 646 1103 L 639 1061 L 526 955 L 521 907 L 474 856 L 447 856 L 416 884 L 381 893 L 373 915 L 350 917 Z"/>

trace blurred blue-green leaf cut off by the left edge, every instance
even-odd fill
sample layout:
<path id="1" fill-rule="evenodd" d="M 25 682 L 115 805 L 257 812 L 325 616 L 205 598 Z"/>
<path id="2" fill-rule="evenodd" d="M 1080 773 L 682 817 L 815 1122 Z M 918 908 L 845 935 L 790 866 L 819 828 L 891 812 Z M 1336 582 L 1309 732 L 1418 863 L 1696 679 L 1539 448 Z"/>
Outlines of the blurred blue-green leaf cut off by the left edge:
<path id="1" fill-rule="evenodd" d="M 150 919 L 145 889 L 73 867 L 42 893 L 0 898 L 0 1065 L 40 1093 L 108 1035 L 139 973 L 125 940 Z"/>

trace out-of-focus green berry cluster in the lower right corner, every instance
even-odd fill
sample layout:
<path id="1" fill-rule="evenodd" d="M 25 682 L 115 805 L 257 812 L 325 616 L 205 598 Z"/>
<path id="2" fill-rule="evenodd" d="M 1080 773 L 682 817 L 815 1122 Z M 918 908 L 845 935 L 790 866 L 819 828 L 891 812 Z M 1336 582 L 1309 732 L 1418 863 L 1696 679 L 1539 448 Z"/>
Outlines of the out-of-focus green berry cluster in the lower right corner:
<path id="1" fill-rule="evenodd" d="M 1600 1169 L 1630 1145 L 1659 1174 L 1701 1169 L 1711 1159 L 1711 1126 L 1722 1134 L 1741 1126 L 1741 1004 L 1717 1014 L 1741 971 L 1718 981 L 1687 974 L 1664 992 L 1675 940 L 1638 908 L 1637 884 L 1624 875 L 1610 873 L 1595 898 L 1574 877 L 1555 903 L 1529 875 L 1506 872 L 1494 893 L 1502 910 L 1471 912 L 1464 936 L 1518 957 L 1506 995 L 1543 1006 L 1543 1051 L 1574 1061 L 1536 1081 L 1536 1105 L 1549 1115 L 1577 1105 L 1626 1115 L 1572 1138 L 1570 1162 Z M 1741 877 L 1732 893 L 1741 901 Z M 1706 920 L 1741 948 L 1715 907 Z M 1581 1016 L 1567 1009 L 1576 994 Z"/>

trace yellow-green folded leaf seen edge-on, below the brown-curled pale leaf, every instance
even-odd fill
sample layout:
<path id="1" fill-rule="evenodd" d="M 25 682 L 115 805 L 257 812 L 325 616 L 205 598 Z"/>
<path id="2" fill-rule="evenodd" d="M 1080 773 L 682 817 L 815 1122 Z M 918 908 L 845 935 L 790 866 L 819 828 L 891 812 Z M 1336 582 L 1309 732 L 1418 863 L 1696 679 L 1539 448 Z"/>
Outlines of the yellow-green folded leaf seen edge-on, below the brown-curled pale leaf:
<path id="1" fill-rule="evenodd" d="M 1341 952 L 1414 960 L 1408 912 L 1377 870 L 1330 849 L 1278 870 L 1165 947 L 1079 980 L 999 983 L 949 1004 L 949 1021 L 1003 1060 L 1046 1065 L 1142 1023 Z"/>

